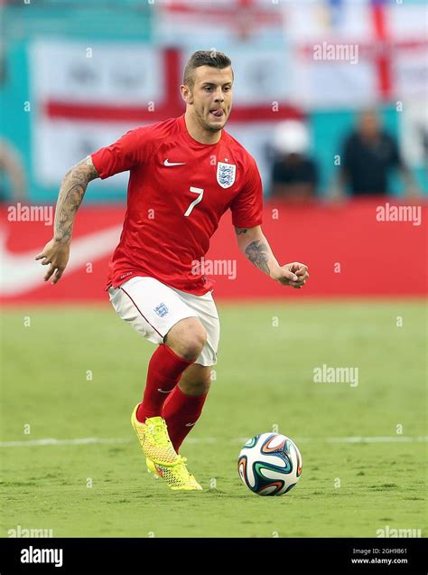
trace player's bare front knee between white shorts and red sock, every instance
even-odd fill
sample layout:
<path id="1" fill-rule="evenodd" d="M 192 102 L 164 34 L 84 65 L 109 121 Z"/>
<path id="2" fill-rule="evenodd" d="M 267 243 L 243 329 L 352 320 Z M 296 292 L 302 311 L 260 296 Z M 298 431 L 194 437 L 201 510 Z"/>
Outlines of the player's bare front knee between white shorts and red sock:
<path id="1" fill-rule="evenodd" d="M 181 319 L 173 325 L 164 339 L 175 353 L 189 362 L 195 360 L 207 343 L 207 332 L 196 317 Z"/>

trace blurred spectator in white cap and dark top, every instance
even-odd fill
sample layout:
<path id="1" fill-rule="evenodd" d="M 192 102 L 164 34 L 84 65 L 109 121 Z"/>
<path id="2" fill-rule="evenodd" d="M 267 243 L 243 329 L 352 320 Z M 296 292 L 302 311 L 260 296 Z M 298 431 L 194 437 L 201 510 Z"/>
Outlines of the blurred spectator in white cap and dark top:
<path id="1" fill-rule="evenodd" d="M 274 134 L 275 159 L 272 169 L 272 197 L 287 202 L 304 202 L 316 195 L 318 168 L 307 156 L 309 134 L 302 122 L 281 122 Z"/>

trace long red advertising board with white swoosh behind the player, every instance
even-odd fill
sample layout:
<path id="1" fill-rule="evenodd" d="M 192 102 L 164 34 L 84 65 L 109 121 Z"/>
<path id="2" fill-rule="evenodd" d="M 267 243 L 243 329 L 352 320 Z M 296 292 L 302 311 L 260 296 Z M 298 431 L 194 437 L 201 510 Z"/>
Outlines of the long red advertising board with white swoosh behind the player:
<path id="1" fill-rule="evenodd" d="M 340 205 L 265 203 L 263 231 L 280 263 L 306 263 L 311 278 L 297 291 L 254 268 L 238 250 L 225 214 L 203 260 L 217 299 L 423 297 L 426 294 L 426 206 L 385 200 Z M 51 239 L 47 222 L 27 222 L 23 209 L 1 214 L 3 304 L 107 301 L 108 259 L 119 239 L 125 206 L 81 206 L 70 263 L 60 282 L 42 281 L 34 256 Z M 17 217 L 16 217 L 17 216 Z M 34 217 L 34 214 L 33 214 Z M 399 221 L 396 221 L 396 220 Z"/>

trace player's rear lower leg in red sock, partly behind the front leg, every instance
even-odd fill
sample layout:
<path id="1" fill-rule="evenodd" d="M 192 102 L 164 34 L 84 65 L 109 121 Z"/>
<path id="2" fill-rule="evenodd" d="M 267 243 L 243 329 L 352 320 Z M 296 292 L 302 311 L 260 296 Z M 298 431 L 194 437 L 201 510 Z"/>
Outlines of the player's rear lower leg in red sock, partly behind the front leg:
<path id="1" fill-rule="evenodd" d="M 211 383 L 211 370 L 212 367 L 198 363 L 190 365 L 163 404 L 163 419 L 177 453 L 181 443 L 200 418 Z"/>

